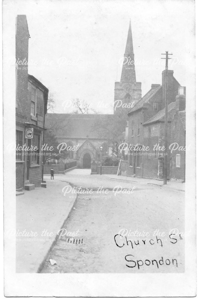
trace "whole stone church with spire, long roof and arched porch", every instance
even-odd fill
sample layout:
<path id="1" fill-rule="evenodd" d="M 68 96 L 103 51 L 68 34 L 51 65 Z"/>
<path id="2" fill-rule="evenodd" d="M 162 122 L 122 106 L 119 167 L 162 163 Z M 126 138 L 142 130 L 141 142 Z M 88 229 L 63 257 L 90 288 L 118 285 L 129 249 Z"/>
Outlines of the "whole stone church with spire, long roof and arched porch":
<path id="1" fill-rule="evenodd" d="M 118 103 L 121 100 L 122 103 L 127 104 L 133 102 L 134 105 L 141 97 L 141 83 L 136 82 L 130 21 L 121 79 L 120 82 L 115 82 L 114 103 Z M 121 106 L 114 113 L 120 113 L 120 109 L 122 109 L 122 113 L 124 112 L 127 115 L 130 108 L 122 108 Z M 61 122 L 62 124 L 61 129 L 56 129 L 55 131 L 59 143 L 65 142 L 69 146 L 78 146 L 77 150 L 70 151 L 68 158 L 76 160 L 79 168 L 90 168 L 93 161 L 99 163 L 100 147 L 103 148 L 102 155 L 111 153 L 112 145 L 108 143 L 108 139 L 101 138 L 93 129 L 97 119 L 104 120 L 104 122 L 113 120 L 113 114 L 48 113 L 46 115 L 46 128 L 50 129 L 52 123 Z M 123 131 L 125 131 L 125 127 L 123 127 Z"/>

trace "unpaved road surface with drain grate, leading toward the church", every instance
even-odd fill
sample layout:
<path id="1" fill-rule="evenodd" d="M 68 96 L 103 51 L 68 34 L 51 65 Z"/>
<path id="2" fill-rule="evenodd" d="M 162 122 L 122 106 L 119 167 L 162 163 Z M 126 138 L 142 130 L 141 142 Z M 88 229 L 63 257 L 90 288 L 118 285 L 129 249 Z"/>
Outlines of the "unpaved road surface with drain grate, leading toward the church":
<path id="1" fill-rule="evenodd" d="M 184 271 L 184 192 L 89 170 L 56 180 L 78 194 L 41 273 Z"/>

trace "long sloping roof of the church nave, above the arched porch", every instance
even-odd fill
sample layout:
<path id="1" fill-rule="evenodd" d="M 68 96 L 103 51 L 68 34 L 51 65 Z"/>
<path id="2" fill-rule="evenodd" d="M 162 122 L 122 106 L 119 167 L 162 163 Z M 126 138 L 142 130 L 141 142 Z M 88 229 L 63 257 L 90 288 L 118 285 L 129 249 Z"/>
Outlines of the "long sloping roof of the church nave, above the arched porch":
<path id="1" fill-rule="evenodd" d="M 61 129 L 56 130 L 58 138 L 96 138 L 93 125 L 97 119 L 113 119 L 113 114 L 73 114 L 73 113 L 48 113 L 45 118 L 45 127 L 50 128 L 50 123 L 58 123 Z M 51 122 L 49 120 L 51 119 Z"/>

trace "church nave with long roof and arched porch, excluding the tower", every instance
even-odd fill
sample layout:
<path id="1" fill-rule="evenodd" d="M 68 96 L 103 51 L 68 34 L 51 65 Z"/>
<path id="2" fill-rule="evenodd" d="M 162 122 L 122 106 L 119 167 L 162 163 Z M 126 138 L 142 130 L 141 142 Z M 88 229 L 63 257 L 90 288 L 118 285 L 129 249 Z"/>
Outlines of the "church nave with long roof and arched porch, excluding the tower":
<path id="1" fill-rule="evenodd" d="M 77 161 L 79 168 L 91 168 L 91 163 L 100 161 L 100 147 L 103 147 L 102 155 L 110 154 L 108 140 L 98 138 L 93 130 L 96 117 L 100 119 L 112 118 L 113 115 L 102 114 L 75 114 L 75 113 L 48 113 L 46 117 L 46 128 L 54 123 L 61 122 L 61 128 L 56 129 L 56 136 L 59 143 L 65 142 L 68 146 L 76 149 L 68 151 L 68 158 Z M 106 151 L 105 151 L 106 149 Z"/>

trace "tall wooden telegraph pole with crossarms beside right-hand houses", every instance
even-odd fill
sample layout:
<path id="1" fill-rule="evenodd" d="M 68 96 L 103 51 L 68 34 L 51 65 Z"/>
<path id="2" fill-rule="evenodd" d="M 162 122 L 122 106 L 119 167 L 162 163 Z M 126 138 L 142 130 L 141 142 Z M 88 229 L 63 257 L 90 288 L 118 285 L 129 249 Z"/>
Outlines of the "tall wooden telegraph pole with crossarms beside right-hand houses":
<path id="1" fill-rule="evenodd" d="M 166 53 L 162 54 L 166 55 L 166 58 L 161 58 L 166 60 L 166 68 L 165 68 L 165 119 L 164 119 L 164 147 L 165 147 L 165 155 L 164 155 L 164 173 L 163 173 L 163 184 L 167 184 L 167 147 L 168 147 L 168 55 L 173 55 L 173 54 L 168 54 L 168 51 Z"/>

